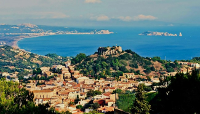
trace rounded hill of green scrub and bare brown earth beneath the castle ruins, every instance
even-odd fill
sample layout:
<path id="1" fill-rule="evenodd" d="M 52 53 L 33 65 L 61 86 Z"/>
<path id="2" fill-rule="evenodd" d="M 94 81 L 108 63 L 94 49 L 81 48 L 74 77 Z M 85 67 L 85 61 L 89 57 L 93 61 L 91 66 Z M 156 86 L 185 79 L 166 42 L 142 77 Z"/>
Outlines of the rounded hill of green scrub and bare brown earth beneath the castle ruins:
<path id="1" fill-rule="evenodd" d="M 180 68 L 178 64 L 161 60 L 159 57 L 144 58 L 131 50 L 116 53 L 113 50 L 110 54 L 109 49 L 98 49 L 98 52 L 90 56 L 78 54 L 72 59 L 72 63 L 76 64 L 75 68 L 84 75 L 95 78 L 119 77 L 123 73 L 160 76 Z M 105 52 L 102 53 L 102 50 Z"/>

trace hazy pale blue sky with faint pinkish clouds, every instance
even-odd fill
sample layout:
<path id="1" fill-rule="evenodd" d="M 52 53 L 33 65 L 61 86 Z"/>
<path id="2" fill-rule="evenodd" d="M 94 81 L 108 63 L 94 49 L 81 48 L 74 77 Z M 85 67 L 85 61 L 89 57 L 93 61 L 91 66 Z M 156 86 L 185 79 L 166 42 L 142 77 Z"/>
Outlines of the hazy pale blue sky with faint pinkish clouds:
<path id="1" fill-rule="evenodd" d="M 200 0 L 0 0 L 0 23 L 56 26 L 200 25 Z"/>

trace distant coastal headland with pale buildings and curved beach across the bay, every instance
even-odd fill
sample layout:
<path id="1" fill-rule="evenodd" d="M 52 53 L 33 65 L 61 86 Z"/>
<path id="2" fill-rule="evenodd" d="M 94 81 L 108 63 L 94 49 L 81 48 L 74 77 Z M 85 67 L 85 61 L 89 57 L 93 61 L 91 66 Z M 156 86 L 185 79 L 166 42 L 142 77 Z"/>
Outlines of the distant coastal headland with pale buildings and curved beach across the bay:
<path id="1" fill-rule="evenodd" d="M 34 25 L 30 23 L 19 25 L 0 24 L 0 45 L 17 47 L 17 42 L 23 38 L 60 34 L 112 34 L 105 29 L 87 29 L 59 26 Z"/>

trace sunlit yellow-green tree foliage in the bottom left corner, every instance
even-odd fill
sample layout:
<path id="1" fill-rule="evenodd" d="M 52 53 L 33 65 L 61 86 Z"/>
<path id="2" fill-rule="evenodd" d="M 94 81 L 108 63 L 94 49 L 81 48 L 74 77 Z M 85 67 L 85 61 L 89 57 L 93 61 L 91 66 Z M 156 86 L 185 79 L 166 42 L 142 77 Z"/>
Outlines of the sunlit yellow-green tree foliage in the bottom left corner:
<path id="1" fill-rule="evenodd" d="M 49 105 L 35 106 L 33 93 L 19 87 L 18 83 L 0 80 L 0 113 L 1 114 L 54 114 Z"/>

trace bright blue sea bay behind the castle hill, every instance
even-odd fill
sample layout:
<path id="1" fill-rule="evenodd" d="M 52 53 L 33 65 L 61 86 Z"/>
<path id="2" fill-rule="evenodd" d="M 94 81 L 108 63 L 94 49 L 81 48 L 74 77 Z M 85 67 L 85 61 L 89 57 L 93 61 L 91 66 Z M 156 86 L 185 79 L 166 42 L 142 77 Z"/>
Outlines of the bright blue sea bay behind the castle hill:
<path id="1" fill-rule="evenodd" d="M 94 29 L 96 29 L 94 27 Z M 102 27 L 114 34 L 52 35 L 25 38 L 18 42 L 21 49 L 46 55 L 76 56 L 79 53 L 91 55 L 99 47 L 121 46 L 131 49 L 140 56 L 158 56 L 166 60 L 190 60 L 200 57 L 200 26 L 153 26 L 153 27 Z M 182 33 L 179 36 L 141 36 L 145 31 Z"/>

